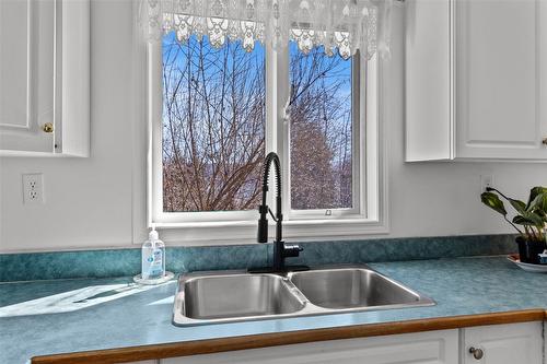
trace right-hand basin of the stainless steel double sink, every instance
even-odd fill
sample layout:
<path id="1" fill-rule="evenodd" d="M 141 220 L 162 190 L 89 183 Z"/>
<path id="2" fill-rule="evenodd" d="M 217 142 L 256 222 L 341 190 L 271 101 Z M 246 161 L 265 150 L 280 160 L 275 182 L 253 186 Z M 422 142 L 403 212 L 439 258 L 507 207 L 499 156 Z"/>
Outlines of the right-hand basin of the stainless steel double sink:
<path id="1" fill-rule="evenodd" d="M 363 268 L 294 272 L 290 280 L 312 304 L 333 309 L 412 305 L 421 298 L 401 284 Z"/>

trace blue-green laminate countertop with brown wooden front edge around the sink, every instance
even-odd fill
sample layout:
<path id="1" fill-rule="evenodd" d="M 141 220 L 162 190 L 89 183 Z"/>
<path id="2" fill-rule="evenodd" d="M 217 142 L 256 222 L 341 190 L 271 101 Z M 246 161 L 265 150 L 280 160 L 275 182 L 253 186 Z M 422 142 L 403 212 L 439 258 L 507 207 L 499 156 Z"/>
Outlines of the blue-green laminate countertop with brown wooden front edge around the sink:
<path id="1" fill-rule="evenodd" d="M 175 327 L 176 281 L 131 278 L 0 284 L 0 363 L 108 363 L 296 342 L 543 320 L 547 274 L 505 257 L 370 263 L 434 306 Z"/>

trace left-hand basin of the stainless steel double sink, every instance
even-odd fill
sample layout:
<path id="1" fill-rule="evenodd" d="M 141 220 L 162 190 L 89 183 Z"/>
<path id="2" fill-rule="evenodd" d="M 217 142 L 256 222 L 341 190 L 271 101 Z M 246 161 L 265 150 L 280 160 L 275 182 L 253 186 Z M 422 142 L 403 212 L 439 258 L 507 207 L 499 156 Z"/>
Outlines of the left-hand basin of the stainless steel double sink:
<path id="1" fill-rule="evenodd" d="M 179 314 L 191 320 L 234 321 L 260 316 L 282 316 L 301 310 L 305 302 L 286 279 L 275 274 L 187 277 Z"/>

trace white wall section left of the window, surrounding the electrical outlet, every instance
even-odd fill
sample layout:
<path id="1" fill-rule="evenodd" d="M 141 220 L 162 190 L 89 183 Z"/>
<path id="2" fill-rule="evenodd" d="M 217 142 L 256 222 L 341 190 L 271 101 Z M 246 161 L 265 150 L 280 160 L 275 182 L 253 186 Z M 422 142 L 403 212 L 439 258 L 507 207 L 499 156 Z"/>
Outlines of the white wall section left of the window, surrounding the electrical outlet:
<path id="1" fill-rule="evenodd" d="M 91 157 L 0 158 L 0 250 L 131 240 L 131 7 L 91 8 Z M 44 173 L 44 206 L 22 203 L 22 173 Z"/>

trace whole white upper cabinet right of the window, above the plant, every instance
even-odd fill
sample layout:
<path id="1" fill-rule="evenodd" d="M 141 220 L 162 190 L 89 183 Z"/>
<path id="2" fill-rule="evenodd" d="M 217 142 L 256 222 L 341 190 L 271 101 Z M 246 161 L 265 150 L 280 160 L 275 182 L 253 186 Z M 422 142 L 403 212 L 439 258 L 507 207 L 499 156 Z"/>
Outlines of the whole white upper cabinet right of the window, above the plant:
<path id="1" fill-rule="evenodd" d="M 406 160 L 547 161 L 547 1 L 408 0 Z"/>

